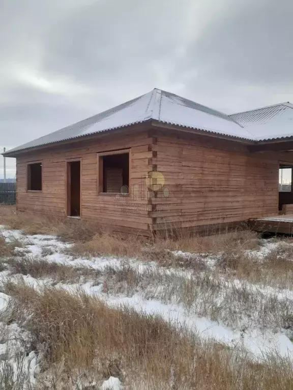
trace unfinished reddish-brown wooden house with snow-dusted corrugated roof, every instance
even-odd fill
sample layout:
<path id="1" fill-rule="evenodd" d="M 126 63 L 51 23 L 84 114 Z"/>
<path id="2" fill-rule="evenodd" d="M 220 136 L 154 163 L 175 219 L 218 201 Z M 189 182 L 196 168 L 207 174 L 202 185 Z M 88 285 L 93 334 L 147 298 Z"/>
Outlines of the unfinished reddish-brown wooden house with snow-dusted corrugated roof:
<path id="1" fill-rule="evenodd" d="M 289 103 L 228 116 L 154 89 L 7 151 L 17 209 L 143 235 L 280 225 L 293 213 L 291 188 L 279 192 L 279 170 L 293 166 L 292 118 Z"/>

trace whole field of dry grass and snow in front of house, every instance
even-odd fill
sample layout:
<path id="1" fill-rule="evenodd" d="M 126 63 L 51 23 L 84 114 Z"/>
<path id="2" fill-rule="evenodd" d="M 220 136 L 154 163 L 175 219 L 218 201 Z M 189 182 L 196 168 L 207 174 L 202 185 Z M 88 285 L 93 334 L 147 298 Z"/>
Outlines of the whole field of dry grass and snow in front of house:
<path id="1" fill-rule="evenodd" d="M 293 389 L 290 238 L 0 224 L 0 390 Z"/>

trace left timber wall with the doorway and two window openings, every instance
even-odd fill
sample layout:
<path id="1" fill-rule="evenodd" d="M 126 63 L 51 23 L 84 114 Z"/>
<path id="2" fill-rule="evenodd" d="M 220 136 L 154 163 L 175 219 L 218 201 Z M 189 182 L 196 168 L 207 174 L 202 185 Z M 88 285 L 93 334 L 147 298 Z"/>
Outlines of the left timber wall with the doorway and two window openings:
<path id="1" fill-rule="evenodd" d="M 79 141 L 67 146 L 46 148 L 17 157 L 17 209 L 67 215 L 67 161 L 81 161 L 81 218 L 96 219 L 117 231 L 150 232 L 152 210 L 150 195 L 144 185 L 152 170 L 153 139 L 148 131 L 133 129 L 131 133 Z M 101 194 L 98 191 L 98 152 L 130 148 L 130 194 Z M 41 192 L 27 191 L 26 166 L 42 162 Z"/>

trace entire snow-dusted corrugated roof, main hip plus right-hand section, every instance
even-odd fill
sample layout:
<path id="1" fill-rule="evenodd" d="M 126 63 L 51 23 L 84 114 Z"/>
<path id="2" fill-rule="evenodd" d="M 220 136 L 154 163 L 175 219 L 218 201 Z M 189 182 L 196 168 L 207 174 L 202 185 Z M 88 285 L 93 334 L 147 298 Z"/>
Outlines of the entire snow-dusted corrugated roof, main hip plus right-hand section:
<path id="1" fill-rule="evenodd" d="M 293 105 L 282 103 L 258 110 L 226 115 L 160 89 L 27 142 L 6 152 L 7 155 L 42 145 L 76 139 L 156 120 L 161 123 L 198 129 L 251 141 L 293 136 Z"/>

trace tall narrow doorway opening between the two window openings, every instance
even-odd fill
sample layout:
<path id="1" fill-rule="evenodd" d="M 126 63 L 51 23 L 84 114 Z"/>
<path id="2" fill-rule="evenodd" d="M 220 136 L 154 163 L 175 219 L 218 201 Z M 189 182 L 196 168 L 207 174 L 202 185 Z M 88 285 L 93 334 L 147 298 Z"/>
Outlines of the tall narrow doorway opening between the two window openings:
<path id="1" fill-rule="evenodd" d="M 80 216 L 80 161 L 67 163 L 67 215 Z"/>

